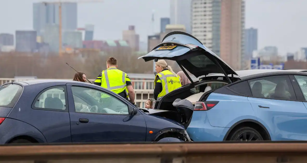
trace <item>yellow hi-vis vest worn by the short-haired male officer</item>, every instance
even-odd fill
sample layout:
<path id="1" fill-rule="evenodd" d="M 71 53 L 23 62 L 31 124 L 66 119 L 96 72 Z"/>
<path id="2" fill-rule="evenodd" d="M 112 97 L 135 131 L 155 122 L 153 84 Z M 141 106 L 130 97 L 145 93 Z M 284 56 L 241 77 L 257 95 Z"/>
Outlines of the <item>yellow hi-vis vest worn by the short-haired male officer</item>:
<path id="1" fill-rule="evenodd" d="M 106 88 L 116 94 L 123 91 L 126 93 L 126 97 L 129 98 L 128 89 L 126 86 L 127 74 L 115 67 L 108 68 L 101 73 L 101 87 Z M 107 94 L 102 94 L 102 98 L 109 97 Z"/>

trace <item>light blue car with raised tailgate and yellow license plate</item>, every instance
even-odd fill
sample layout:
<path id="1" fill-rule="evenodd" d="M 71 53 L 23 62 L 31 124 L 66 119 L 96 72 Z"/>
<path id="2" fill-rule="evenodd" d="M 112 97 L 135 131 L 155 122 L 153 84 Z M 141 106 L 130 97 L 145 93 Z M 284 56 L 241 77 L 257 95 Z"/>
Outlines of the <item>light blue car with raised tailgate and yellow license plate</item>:
<path id="1" fill-rule="evenodd" d="M 305 72 L 234 71 L 197 38 L 179 31 L 139 58 L 175 60 L 187 76 L 188 71 L 200 79 L 188 76 L 192 83 L 153 104 L 178 112 L 177 122 L 192 141 L 307 140 Z"/>

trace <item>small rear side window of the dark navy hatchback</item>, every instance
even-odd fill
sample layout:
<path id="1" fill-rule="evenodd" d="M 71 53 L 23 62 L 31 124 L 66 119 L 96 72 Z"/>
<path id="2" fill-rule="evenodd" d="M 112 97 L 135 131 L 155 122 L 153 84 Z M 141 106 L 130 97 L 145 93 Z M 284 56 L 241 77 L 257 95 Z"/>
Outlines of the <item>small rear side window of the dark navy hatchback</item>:
<path id="1" fill-rule="evenodd" d="M 46 110 L 46 109 L 65 110 L 66 109 L 65 88 L 63 86 L 58 86 L 58 87 L 45 89 L 37 98 L 34 107 L 35 109 L 41 109 L 41 110 Z"/>

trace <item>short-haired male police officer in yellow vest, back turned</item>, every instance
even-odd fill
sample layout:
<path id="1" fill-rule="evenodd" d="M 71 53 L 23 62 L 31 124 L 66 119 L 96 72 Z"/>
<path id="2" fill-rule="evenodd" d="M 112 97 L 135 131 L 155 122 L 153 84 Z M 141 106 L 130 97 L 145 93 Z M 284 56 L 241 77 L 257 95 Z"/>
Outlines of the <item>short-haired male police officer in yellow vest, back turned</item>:
<path id="1" fill-rule="evenodd" d="M 107 70 L 102 71 L 94 81 L 95 85 L 102 86 L 126 100 L 130 98 L 130 102 L 134 103 L 134 90 L 128 75 L 117 69 L 117 60 L 114 57 L 109 57 L 107 60 Z M 102 100 L 108 101 L 110 96 L 102 94 Z M 109 101 L 111 103 L 111 101 Z M 105 102 L 103 102 L 105 103 Z"/>

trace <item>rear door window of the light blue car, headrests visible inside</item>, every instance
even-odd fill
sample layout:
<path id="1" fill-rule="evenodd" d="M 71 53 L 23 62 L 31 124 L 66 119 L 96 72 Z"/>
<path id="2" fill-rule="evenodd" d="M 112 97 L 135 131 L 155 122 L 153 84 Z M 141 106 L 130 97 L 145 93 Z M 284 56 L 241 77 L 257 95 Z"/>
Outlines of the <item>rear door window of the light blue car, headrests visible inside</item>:
<path id="1" fill-rule="evenodd" d="M 271 99 L 296 100 L 288 75 L 256 78 L 248 81 L 252 96 Z"/>

